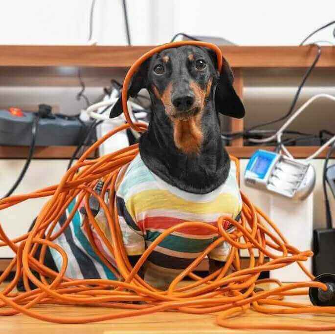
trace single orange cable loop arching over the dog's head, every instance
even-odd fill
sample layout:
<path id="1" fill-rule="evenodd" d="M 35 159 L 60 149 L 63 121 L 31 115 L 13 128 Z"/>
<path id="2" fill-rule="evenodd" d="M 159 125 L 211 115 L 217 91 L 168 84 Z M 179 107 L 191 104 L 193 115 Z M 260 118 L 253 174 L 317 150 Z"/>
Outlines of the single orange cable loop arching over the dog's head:
<path id="1" fill-rule="evenodd" d="M 166 44 L 156 46 L 155 48 L 153 48 L 150 51 L 148 51 L 147 53 L 145 53 L 143 56 L 138 58 L 137 61 L 128 70 L 128 72 L 126 74 L 126 77 L 124 79 L 124 82 L 123 82 L 123 87 L 122 87 L 122 108 L 123 108 L 123 112 L 124 112 L 124 115 L 125 115 L 125 118 L 126 118 L 127 122 L 129 123 L 131 128 L 133 128 L 135 131 L 143 132 L 143 129 L 139 128 L 138 126 L 136 126 L 133 123 L 131 117 L 129 116 L 128 107 L 127 107 L 128 87 L 129 87 L 129 84 L 132 80 L 132 77 L 133 77 L 134 73 L 136 73 L 136 71 L 138 70 L 138 68 L 140 67 L 140 65 L 142 63 L 144 63 L 147 59 L 149 59 L 155 53 L 160 52 L 162 50 L 171 49 L 173 47 L 179 47 L 179 46 L 183 46 L 183 45 L 196 45 L 196 46 L 207 47 L 207 48 L 213 50 L 216 53 L 217 58 L 218 58 L 218 71 L 219 72 L 221 71 L 221 68 L 222 68 L 222 65 L 223 65 L 222 52 L 221 52 L 221 49 L 217 45 L 212 44 L 212 43 L 199 42 L 199 41 L 179 41 L 179 42 L 166 43 Z"/>

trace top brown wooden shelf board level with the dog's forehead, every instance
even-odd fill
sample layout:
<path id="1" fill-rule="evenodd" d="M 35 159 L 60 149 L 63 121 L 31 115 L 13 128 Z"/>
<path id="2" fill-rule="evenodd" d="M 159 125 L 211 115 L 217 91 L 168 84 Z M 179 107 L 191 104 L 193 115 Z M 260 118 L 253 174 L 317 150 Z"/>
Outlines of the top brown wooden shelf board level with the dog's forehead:
<path id="1" fill-rule="evenodd" d="M 0 66 L 130 67 L 153 46 L 0 45 Z M 303 68 L 315 46 L 221 46 L 232 67 Z M 322 46 L 316 67 L 335 67 L 335 47 Z"/>

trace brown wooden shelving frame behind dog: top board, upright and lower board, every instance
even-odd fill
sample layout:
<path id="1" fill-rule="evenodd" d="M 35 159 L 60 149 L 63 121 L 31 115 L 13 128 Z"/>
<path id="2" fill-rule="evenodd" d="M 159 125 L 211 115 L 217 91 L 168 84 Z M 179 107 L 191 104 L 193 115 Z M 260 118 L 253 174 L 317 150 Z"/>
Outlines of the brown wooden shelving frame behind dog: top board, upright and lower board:
<path id="1" fill-rule="evenodd" d="M 78 66 L 90 68 L 124 69 L 130 67 L 141 55 L 153 46 L 71 46 L 71 45 L 0 45 L 0 67 L 59 67 Z M 315 58 L 316 48 L 306 46 L 220 46 L 224 57 L 234 67 L 234 86 L 243 98 L 243 69 L 246 68 L 305 68 Z M 335 47 L 322 46 L 319 68 L 335 68 Z M 242 131 L 243 119 L 231 119 L 230 131 Z M 238 158 L 249 158 L 257 148 L 274 150 L 274 147 L 243 146 L 238 138 L 227 147 L 230 154 Z M 316 146 L 288 147 L 295 158 L 306 158 L 313 154 Z M 34 158 L 68 159 L 74 146 L 37 147 Z M 28 147 L 0 146 L 0 158 L 25 158 Z M 326 150 L 319 155 L 323 158 Z"/>

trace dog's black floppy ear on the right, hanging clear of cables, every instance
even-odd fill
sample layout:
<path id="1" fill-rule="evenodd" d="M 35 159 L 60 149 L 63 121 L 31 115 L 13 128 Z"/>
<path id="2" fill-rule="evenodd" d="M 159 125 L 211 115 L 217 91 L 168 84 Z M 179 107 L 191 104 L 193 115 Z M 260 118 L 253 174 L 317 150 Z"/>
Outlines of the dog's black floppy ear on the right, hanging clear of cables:
<path id="1" fill-rule="evenodd" d="M 217 55 L 214 51 L 207 49 L 217 69 Z M 243 118 L 246 111 L 241 99 L 233 87 L 234 76 L 228 62 L 223 58 L 221 72 L 214 91 L 215 109 L 223 115 Z"/>

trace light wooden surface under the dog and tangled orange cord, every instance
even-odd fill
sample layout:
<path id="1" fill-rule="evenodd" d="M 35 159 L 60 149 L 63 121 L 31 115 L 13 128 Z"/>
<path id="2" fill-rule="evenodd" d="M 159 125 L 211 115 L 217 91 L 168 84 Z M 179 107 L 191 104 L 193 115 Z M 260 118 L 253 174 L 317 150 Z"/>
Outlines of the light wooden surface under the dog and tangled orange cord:
<path id="1" fill-rule="evenodd" d="M 2 290 L 2 289 L 1 289 Z M 308 296 L 287 297 L 286 300 L 299 303 L 309 303 Z M 57 314 L 66 316 L 83 316 L 106 314 L 109 312 L 122 312 L 122 310 L 111 310 L 107 308 L 94 307 L 71 307 L 41 305 L 34 308 L 42 314 Z M 194 315 L 178 312 L 160 312 L 149 315 L 142 315 L 134 318 L 109 320 L 93 324 L 53 324 L 30 318 L 26 315 L 15 315 L 0 319 L 0 333 L 2 334 L 224 334 L 224 333 L 311 333 L 311 332 L 290 332 L 290 331 L 260 331 L 252 330 L 253 323 L 284 322 L 298 324 L 309 322 L 315 324 L 335 323 L 335 316 L 329 314 L 303 314 L 303 315 L 268 315 L 248 311 L 246 314 L 235 318 L 234 321 L 250 324 L 248 331 L 227 330 L 215 324 L 216 315 Z M 317 332 L 331 333 L 331 332 Z"/>

